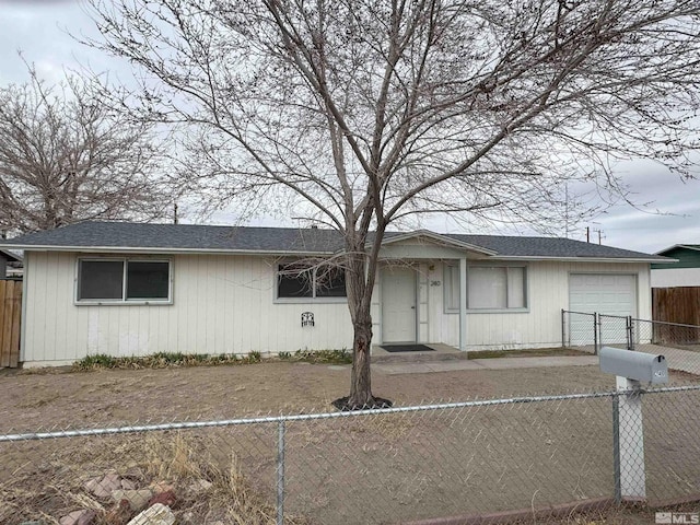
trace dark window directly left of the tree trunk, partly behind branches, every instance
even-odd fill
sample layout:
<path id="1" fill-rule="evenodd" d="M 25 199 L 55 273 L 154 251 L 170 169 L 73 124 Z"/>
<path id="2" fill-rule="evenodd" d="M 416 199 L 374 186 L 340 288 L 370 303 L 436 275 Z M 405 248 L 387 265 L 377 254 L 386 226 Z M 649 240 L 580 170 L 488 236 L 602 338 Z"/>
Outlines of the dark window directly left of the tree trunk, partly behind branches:
<path id="1" fill-rule="evenodd" d="M 308 268 L 298 262 L 282 264 L 277 268 L 277 299 L 328 300 L 346 296 L 346 272 L 342 268 Z"/>

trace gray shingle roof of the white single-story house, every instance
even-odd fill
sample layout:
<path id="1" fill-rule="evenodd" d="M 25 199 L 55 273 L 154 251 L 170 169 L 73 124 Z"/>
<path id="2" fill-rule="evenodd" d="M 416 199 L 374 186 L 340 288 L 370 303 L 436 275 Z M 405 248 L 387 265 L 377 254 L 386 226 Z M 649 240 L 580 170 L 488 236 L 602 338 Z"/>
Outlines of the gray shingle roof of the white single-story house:
<path id="1" fill-rule="evenodd" d="M 390 238 L 396 233 L 387 233 Z M 495 257 L 604 258 L 667 261 L 655 255 L 599 246 L 557 237 L 443 234 L 445 241 L 482 247 Z M 31 233 L 4 243 L 22 249 L 35 248 L 138 248 L 149 250 L 259 252 L 324 254 L 342 249 L 340 234 L 332 230 L 209 226 L 192 224 L 138 224 L 126 222 L 83 222 Z"/>

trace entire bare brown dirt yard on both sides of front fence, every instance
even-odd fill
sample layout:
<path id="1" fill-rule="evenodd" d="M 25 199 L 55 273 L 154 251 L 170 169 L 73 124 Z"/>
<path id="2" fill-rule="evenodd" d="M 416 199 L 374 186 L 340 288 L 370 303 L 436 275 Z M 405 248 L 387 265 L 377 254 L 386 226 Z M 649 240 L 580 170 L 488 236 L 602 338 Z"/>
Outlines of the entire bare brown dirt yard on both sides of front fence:
<path id="1" fill-rule="evenodd" d="M 0 433 L 325 412 L 347 394 L 349 376 L 348 365 L 301 363 L 3 372 Z M 689 380 L 672 374 L 673 384 Z M 609 390 L 612 383 L 596 366 L 373 375 L 374 393 L 396 406 Z M 700 440 L 689 439 L 687 421 L 668 419 L 697 404 L 696 393 L 645 400 L 650 495 L 700 491 L 700 471 L 687 460 L 700 454 Z M 85 491 L 86 480 L 108 472 L 143 489 L 173 485 L 178 523 L 275 523 L 278 431 L 270 422 L 0 443 L 0 523 L 58 523 L 91 509 L 98 524 L 124 524 L 109 521 L 108 499 Z M 289 524 L 405 523 L 614 492 L 609 398 L 292 421 L 284 432 Z"/>

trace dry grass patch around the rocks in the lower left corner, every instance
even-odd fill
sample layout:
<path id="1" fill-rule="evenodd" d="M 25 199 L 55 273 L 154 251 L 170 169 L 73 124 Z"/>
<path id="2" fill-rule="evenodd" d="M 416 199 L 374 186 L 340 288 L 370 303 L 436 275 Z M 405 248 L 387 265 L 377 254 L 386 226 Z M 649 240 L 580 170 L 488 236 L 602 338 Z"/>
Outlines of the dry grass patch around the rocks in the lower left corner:
<path id="1" fill-rule="evenodd" d="M 249 482 L 236 454 L 213 457 L 195 435 L 108 438 L 97 446 L 75 443 L 71 450 L 51 446 L 56 443 L 42 443 L 52 448 L 42 451 L 48 455 L 45 462 L 18 467 L 0 483 L 0 523 L 38 520 L 58 524 L 70 512 L 88 509 L 97 513 L 96 525 L 124 525 L 136 513 L 119 515 L 115 502 L 96 498 L 84 488 L 88 479 L 107 472 L 116 472 L 138 488 L 172 487 L 178 524 L 276 523 L 275 505 Z M 287 516 L 284 523 L 308 522 Z"/>

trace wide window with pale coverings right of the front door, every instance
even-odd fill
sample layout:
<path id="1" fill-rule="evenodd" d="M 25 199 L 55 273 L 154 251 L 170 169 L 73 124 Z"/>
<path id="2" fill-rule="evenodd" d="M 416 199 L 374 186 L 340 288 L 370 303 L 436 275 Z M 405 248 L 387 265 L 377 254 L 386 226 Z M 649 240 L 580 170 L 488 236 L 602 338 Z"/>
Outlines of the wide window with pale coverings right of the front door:
<path id="1" fill-rule="evenodd" d="M 468 266 L 467 310 L 527 307 L 527 271 L 524 266 Z M 445 266 L 445 311 L 459 312 L 459 267 Z"/>

